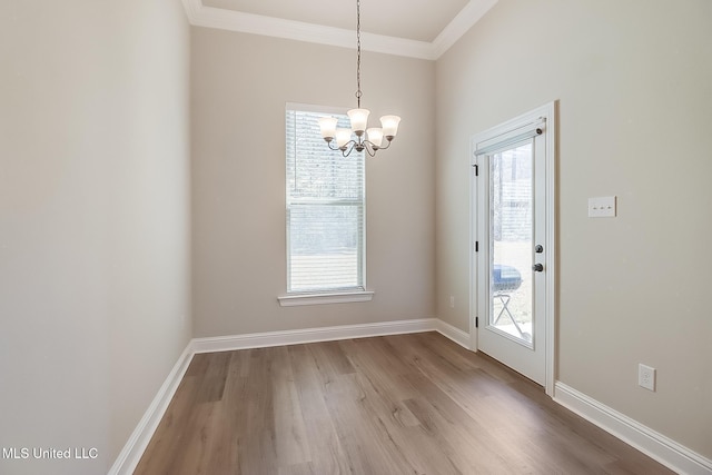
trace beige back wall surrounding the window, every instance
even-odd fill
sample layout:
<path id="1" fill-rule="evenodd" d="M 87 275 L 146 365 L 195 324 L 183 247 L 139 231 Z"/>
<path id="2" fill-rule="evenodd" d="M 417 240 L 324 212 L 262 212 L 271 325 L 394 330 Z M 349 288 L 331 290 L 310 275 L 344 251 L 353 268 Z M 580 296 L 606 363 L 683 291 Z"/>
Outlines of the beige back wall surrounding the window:
<path id="1" fill-rule="evenodd" d="M 363 55 L 363 106 L 403 117 L 366 166 L 370 303 L 280 307 L 285 103 L 355 107 L 356 51 L 192 29 L 195 336 L 433 317 L 432 61 Z"/>

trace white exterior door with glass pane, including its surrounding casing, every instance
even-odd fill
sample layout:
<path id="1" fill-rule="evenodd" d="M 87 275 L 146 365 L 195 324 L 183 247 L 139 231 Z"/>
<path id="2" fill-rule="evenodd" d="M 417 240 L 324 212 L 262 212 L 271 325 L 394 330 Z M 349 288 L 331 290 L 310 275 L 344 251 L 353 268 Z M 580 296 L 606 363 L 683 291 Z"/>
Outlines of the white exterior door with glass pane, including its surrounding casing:
<path id="1" fill-rule="evenodd" d="M 473 138 L 472 308 L 476 348 L 548 389 L 553 108 L 551 119 L 547 112 L 531 112 Z"/>

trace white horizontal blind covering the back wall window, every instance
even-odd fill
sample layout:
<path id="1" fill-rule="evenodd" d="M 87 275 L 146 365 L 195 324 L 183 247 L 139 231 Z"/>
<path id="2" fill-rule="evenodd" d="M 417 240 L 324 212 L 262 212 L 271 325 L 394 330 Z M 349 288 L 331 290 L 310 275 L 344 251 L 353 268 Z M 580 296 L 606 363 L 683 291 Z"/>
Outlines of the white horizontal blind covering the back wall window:
<path id="1" fill-rule="evenodd" d="M 318 119 L 287 109 L 287 293 L 363 290 L 365 158 L 328 149 Z"/>

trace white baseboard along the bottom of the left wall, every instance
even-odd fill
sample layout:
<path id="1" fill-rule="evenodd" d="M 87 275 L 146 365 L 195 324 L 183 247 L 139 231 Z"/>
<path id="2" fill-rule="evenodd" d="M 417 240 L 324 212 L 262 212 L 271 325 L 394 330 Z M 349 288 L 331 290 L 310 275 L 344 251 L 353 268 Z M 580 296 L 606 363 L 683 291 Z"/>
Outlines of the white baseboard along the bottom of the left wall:
<path id="1" fill-rule="evenodd" d="M 156 397 L 154 397 L 154 400 L 148 406 L 148 409 L 146 409 L 144 417 L 141 417 L 141 420 L 139 420 L 138 425 L 134 429 L 134 433 L 121 449 L 121 453 L 113 462 L 108 475 L 129 475 L 134 473 L 136 466 L 141 459 L 141 456 L 144 455 L 144 451 L 146 451 L 148 443 L 158 428 L 158 424 L 164 417 L 170 400 L 176 394 L 176 390 L 188 369 L 188 365 L 190 365 L 194 354 L 195 352 L 192 350 L 191 340 L 178 357 L 176 365 L 168 374 L 162 386 L 158 389 Z"/>

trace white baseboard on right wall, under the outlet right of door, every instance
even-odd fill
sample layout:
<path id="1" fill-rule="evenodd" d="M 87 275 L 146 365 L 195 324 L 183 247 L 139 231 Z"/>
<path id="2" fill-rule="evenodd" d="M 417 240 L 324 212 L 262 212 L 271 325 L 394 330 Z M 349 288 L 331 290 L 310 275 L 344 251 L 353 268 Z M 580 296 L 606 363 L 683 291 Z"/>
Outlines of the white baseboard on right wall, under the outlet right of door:
<path id="1" fill-rule="evenodd" d="M 709 458 L 561 382 L 554 400 L 679 474 L 712 474 Z"/>

